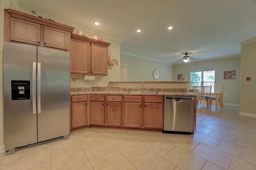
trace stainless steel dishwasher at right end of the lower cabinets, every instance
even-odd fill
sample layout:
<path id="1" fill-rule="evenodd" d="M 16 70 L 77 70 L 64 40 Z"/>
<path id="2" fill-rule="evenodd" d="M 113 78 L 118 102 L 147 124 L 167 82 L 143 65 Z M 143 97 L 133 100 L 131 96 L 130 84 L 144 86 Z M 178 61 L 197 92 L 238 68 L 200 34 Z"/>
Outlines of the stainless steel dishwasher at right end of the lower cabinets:
<path id="1" fill-rule="evenodd" d="M 163 133 L 193 131 L 193 97 L 164 96 Z"/>

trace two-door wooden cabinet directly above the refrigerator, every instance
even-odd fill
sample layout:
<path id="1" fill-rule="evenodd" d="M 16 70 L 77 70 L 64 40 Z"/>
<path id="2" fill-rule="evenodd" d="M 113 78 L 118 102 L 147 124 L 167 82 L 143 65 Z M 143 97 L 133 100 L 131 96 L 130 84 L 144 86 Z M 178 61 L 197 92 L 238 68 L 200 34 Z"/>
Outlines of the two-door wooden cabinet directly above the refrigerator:
<path id="1" fill-rule="evenodd" d="M 4 10 L 4 41 L 69 51 L 73 30 L 74 27 L 11 9 Z"/>

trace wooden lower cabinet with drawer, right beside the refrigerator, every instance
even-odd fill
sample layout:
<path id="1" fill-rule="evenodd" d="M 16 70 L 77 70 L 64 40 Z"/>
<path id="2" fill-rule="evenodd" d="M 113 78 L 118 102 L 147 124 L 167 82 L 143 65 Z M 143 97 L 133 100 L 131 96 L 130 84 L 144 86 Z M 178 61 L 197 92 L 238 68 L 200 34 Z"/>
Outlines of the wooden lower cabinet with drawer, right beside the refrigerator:
<path id="1" fill-rule="evenodd" d="M 72 96 L 71 128 L 87 125 L 87 96 Z"/>

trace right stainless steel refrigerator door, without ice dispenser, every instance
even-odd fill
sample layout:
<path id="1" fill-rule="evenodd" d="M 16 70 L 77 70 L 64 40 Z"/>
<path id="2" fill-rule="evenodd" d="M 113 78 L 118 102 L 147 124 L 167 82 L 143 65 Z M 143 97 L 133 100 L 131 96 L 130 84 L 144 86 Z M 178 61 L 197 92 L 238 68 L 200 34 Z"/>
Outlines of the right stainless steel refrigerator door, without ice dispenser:
<path id="1" fill-rule="evenodd" d="M 38 142 L 69 135 L 70 53 L 38 47 Z"/>

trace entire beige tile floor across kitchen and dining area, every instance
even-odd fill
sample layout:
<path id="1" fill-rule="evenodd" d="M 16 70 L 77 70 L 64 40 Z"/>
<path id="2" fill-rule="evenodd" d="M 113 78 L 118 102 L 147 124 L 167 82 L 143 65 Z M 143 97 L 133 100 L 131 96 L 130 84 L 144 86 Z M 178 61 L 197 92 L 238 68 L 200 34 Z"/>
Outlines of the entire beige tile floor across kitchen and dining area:
<path id="1" fill-rule="evenodd" d="M 197 109 L 196 133 L 86 129 L 14 154 L 0 170 L 255 170 L 256 118 L 239 107 Z"/>

